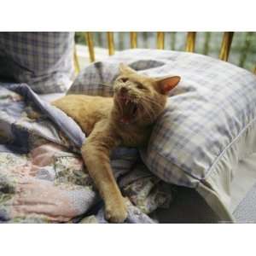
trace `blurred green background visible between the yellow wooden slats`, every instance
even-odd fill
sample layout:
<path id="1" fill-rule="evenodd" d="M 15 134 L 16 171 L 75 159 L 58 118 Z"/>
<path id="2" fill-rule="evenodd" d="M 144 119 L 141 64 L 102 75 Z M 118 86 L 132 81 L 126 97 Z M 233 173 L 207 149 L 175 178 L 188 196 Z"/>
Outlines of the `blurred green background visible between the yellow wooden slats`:
<path id="1" fill-rule="evenodd" d="M 114 32 L 116 50 L 130 48 L 130 32 Z M 165 32 L 165 49 L 184 50 L 187 32 Z M 218 58 L 223 32 L 196 32 L 195 53 Z M 106 32 L 93 32 L 94 44 L 108 48 Z M 76 32 L 77 44 L 85 44 L 84 32 Z M 156 48 L 156 32 L 137 32 L 138 48 Z M 256 32 L 235 32 L 229 61 L 253 70 L 256 65 Z"/>

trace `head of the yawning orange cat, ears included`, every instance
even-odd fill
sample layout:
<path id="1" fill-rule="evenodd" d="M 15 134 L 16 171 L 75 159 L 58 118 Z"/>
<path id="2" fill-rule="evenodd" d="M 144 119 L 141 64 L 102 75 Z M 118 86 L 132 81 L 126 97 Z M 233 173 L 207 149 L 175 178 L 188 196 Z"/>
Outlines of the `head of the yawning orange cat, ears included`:
<path id="1" fill-rule="evenodd" d="M 119 72 L 113 84 L 113 99 L 119 121 L 142 125 L 154 123 L 166 107 L 168 92 L 178 84 L 180 77 L 154 79 L 124 64 L 120 64 Z"/>

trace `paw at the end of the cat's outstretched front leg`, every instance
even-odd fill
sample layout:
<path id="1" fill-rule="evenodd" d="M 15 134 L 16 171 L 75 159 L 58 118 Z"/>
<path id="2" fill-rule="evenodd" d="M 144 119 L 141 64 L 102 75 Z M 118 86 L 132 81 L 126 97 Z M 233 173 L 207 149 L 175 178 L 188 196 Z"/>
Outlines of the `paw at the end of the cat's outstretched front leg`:
<path id="1" fill-rule="evenodd" d="M 128 212 L 125 205 L 125 199 L 122 201 L 108 202 L 105 209 L 105 218 L 112 223 L 123 223 L 127 218 Z"/>

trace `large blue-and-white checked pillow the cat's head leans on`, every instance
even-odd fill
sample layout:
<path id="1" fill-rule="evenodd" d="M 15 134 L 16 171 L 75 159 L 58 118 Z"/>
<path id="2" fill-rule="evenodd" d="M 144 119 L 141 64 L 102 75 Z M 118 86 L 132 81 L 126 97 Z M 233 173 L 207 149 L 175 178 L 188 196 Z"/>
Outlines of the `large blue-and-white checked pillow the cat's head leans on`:
<path id="1" fill-rule="evenodd" d="M 86 67 L 68 93 L 112 95 L 119 62 L 154 77 L 179 75 L 154 125 L 143 161 L 166 182 L 195 188 L 223 219 L 233 220 L 235 166 L 256 152 L 256 76 L 206 55 L 125 50 Z"/>

